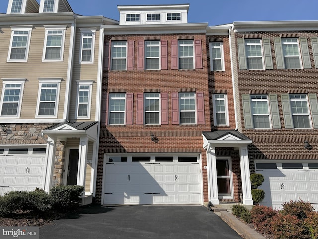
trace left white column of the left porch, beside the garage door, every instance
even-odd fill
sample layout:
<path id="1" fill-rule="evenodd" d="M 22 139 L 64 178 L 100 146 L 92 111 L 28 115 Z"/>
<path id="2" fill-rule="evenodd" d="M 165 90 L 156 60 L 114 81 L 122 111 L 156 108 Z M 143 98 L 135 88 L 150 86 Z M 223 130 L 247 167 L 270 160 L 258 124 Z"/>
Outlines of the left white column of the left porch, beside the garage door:
<path id="1" fill-rule="evenodd" d="M 52 187 L 53 171 L 54 171 L 54 159 L 55 159 L 55 146 L 56 141 L 48 137 L 46 145 L 46 155 L 45 155 L 45 177 L 43 182 L 43 189 L 49 192 Z"/>

